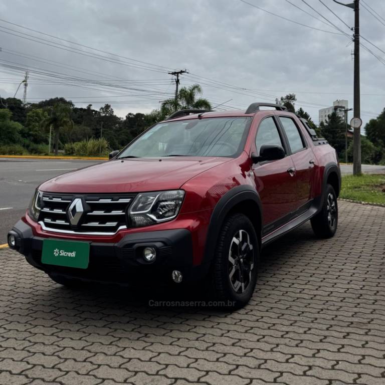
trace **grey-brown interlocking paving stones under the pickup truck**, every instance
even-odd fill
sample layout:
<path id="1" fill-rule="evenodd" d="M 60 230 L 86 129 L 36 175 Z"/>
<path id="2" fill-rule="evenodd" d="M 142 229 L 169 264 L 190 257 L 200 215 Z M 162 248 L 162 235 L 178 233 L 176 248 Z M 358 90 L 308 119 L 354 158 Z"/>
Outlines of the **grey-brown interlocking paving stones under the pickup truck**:
<path id="1" fill-rule="evenodd" d="M 385 208 L 340 202 L 267 248 L 244 309 L 154 308 L 0 252 L 0 384 L 385 384 Z"/>

